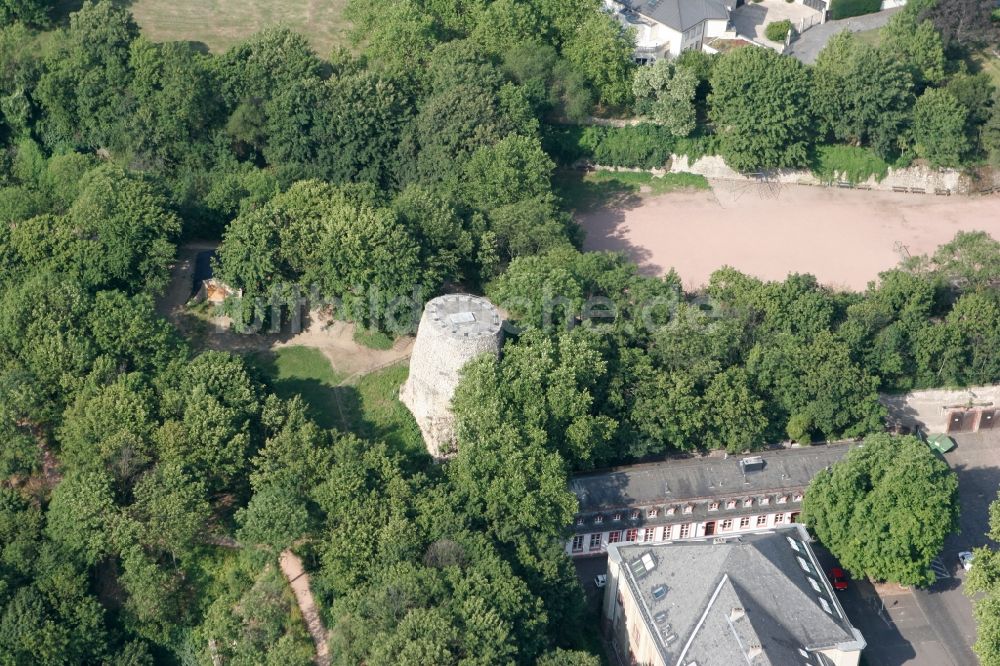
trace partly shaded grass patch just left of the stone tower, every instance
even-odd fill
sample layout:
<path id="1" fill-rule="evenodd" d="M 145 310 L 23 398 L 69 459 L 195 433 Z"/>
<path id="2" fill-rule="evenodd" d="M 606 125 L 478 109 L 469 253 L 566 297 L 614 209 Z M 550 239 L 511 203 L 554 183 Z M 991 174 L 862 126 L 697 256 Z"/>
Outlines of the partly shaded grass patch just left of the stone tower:
<path id="1" fill-rule="evenodd" d="M 409 372 L 405 362 L 365 375 L 357 384 L 344 377 L 313 347 L 281 347 L 249 356 L 281 398 L 302 396 L 309 416 L 324 428 L 385 442 L 419 467 L 427 460 L 417 422 L 399 401 Z"/>

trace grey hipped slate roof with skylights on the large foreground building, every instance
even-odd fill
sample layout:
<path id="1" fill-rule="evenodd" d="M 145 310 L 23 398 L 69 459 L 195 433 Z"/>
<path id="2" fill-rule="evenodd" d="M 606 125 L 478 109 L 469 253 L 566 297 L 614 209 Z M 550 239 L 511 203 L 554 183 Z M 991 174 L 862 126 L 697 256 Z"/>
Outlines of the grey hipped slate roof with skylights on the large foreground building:
<path id="1" fill-rule="evenodd" d="M 864 647 L 807 540 L 805 529 L 793 526 L 719 542 L 611 546 L 608 553 L 622 562 L 665 663 L 786 666 L 825 663 L 815 654 L 822 649 Z M 661 586 L 665 594 L 654 594 Z"/>

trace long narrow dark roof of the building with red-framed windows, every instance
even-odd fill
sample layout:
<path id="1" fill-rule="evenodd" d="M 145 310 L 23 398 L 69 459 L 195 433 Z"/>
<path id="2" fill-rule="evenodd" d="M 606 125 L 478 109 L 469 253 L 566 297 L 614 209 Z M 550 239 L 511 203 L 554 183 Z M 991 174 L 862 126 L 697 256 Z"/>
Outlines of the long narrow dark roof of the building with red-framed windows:
<path id="1" fill-rule="evenodd" d="M 581 514 L 801 490 L 852 446 L 856 445 L 824 444 L 616 467 L 577 475 L 570 480 L 570 490 L 579 500 Z M 752 458 L 759 458 L 762 466 L 748 466 L 744 472 L 740 462 Z"/>

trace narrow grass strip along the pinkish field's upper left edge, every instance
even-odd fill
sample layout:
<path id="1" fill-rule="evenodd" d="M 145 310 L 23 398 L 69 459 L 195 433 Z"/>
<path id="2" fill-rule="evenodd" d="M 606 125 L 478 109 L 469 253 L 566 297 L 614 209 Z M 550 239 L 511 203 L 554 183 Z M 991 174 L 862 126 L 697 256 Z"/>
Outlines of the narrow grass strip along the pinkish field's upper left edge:
<path id="1" fill-rule="evenodd" d="M 559 171 L 553 186 L 569 207 L 577 212 L 609 205 L 638 203 L 643 196 L 658 196 L 677 190 L 707 190 L 708 180 L 693 173 L 656 176 L 647 171 Z"/>

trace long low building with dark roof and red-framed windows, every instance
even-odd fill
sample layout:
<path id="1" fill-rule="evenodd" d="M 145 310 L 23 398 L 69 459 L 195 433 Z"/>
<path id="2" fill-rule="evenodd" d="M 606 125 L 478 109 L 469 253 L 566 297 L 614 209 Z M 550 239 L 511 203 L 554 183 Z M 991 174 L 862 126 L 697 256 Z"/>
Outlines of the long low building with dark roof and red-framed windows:
<path id="1" fill-rule="evenodd" d="M 579 512 L 566 552 L 605 553 L 614 543 L 658 543 L 767 530 L 796 522 L 806 487 L 856 444 L 753 455 L 666 460 L 580 474 Z"/>

